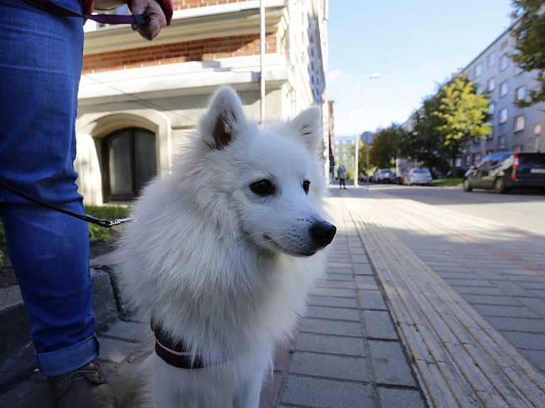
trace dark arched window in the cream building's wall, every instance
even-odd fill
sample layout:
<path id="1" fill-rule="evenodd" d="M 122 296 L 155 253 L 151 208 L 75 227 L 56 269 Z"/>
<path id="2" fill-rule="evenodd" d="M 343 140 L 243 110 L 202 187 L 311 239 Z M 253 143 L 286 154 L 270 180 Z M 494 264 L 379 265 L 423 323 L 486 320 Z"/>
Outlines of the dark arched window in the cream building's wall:
<path id="1" fill-rule="evenodd" d="M 125 128 L 101 140 L 104 200 L 128 201 L 155 175 L 155 133 Z"/>

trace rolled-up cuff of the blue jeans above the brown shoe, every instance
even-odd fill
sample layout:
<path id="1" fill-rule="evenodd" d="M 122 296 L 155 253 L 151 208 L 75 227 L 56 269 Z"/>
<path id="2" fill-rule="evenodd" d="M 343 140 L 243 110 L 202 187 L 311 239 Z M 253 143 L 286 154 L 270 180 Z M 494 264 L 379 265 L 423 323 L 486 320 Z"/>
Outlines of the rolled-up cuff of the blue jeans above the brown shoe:
<path id="1" fill-rule="evenodd" d="M 50 353 L 35 353 L 38 370 L 42 375 L 53 377 L 90 363 L 99 356 L 100 343 L 95 334 L 80 343 Z"/>

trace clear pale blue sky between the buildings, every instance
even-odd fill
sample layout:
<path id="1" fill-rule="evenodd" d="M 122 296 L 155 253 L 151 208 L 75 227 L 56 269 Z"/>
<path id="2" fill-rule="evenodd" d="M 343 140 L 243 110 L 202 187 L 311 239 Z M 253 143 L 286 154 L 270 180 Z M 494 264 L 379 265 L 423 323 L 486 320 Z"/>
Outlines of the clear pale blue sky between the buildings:
<path id="1" fill-rule="evenodd" d="M 359 133 L 406 121 L 508 28 L 511 11 L 511 0 L 330 0 L 335 135 L 356 134 L 356 111 Z"/>

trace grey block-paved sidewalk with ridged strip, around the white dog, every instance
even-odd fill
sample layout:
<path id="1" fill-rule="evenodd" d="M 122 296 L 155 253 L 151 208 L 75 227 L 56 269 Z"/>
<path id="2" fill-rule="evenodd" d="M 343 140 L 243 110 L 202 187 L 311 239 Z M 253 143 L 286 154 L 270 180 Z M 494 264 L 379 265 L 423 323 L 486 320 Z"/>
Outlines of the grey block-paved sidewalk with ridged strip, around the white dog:
<path id="1" fill-rule="evenodd" d="M 327 280 L 260 408 L 545 407 L 545 236 L 364 188 L 333 189 Z M 395 214 L 395 216 L 392 216 Z M 138 316 L 101 335 L 122 408 Z M 39 374 L 0 408 L 50 408 Z"/>

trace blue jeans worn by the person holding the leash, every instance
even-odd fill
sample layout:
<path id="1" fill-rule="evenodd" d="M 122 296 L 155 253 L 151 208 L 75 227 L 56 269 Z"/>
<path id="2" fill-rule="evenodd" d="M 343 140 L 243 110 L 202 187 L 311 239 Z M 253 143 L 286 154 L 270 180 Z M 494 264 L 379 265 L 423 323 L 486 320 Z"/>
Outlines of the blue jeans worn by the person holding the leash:
<path id="1" fill-rule="evenodd" d="M 81 12 L 77 0 L 55 0 Z M 82 18 L 0 0 L 0 180 L 82 214 L 75 119 Z M 99 354 L 87 224 L 0 189 L 9 257 L 28 309 L 36 361 L 60 375 Z"/>

